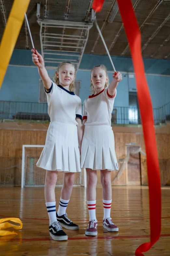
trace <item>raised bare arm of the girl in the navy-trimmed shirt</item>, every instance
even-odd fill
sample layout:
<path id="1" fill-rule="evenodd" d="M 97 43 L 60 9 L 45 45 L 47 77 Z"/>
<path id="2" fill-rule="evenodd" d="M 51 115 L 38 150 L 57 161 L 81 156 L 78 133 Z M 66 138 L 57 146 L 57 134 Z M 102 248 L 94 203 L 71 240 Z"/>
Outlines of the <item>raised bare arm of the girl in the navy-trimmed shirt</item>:
<path id="1" fill-rule="evenodd" d="M 32 49 L 31 51 L 33 53 L 32 54 L 33 62 L 38 67 L 39 75 L 43 81 L 44 87 L 48 91 L 51 87 L 51 79 L 45 68 L 43 57 L 41 56 L 41 54 L 37 52 L 37 50 Z"/>

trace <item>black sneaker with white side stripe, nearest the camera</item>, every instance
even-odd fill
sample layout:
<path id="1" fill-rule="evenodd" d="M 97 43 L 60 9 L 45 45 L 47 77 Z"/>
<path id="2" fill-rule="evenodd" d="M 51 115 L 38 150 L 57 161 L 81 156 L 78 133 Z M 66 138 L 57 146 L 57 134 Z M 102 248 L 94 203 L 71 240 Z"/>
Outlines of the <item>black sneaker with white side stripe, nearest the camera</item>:
<path id="1" fill-rule="evenodd" d="M 55 241 L 68 240 L 68 236 L 62 230 L 62 227 L 60 226 L 60 224 L 57 221 L 51 223 L 51 225 L 49 227 L 49 231 L 50 231 L 50 236 Z"/>

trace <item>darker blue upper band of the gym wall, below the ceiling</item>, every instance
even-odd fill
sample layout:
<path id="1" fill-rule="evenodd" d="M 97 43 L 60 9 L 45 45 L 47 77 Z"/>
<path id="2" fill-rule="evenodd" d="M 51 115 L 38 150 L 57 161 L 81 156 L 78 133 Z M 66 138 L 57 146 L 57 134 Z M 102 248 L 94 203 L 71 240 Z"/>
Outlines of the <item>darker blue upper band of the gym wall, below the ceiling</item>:
<path id="1" fill-rule="evenodd" d="M 119 56 L 111 56 L 111 57 L 112 57 L 113 63 L 115 64 L 116 70 L 120 70 L 124 72 L 134 72 L 131 58 L 119 57 Z M 50 55 L 49 55 L 49 58 L 50 58 Z M 73 57 L 70 57 L 70 58 L 73 59 Z M 170 60 L 143 59 L 143 61 L 144 61 L 146 73 L 170 75 Z M 11 60 L 10 60 L 10 64 L 32 66 L 33 62 L 32 62 L 31 51 L 14 49 Z M 105 64 L 107 67 L 107 70 L 112 70 L 112 66 L 107 56 L 92 55 L 92 54 L 83 55 L 83 58 L 80 64 L 80 69 L 92 69 L 93 66 L 99 65 L 99 64 Z"/>

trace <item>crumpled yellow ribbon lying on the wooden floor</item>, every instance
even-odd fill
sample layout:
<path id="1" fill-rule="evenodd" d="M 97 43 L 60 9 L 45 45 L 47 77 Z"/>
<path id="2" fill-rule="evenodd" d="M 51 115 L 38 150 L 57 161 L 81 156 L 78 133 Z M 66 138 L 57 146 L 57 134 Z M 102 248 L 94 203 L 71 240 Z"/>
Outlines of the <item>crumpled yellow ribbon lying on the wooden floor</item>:
<path id="1" fill-rule="evenodd" d="M 19 223 L 19 225 L 15 225 L 12 223 L 9 223 L 8 220 L 15 222 L 15 223 Z M 15 231 L 8 231 L 8 230 L 1 230 L 1 229 L 7 229 L 7 228 L 14 228 L 14 229 L 22 229 L 22 222 L 19 218 L 4 218 L 4 219 L 0 219 L 0 236 L 4 236 L 4 235 L 17 235 L 17 233 Z"/>

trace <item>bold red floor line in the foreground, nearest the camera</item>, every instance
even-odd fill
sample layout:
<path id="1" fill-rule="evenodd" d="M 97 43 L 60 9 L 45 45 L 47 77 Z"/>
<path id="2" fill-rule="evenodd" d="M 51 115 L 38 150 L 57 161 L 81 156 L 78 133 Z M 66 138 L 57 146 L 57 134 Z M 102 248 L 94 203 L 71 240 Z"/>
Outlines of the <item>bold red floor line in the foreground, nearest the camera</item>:
<path id="1" fill-rule="evenodd" d="M 162 234 L 161 237 L 169 237 L 170 234 Z M 94 239 L 135 239 L 135 238 L 149 238 L 150 235 L 132 235 L 132 236 L 96 236 L 96 237 L 69 237 L 68 240 L 94 240 Z M 27 242 L 27 241 L 49 241 L 51 237 L 44 238 L 12 238 L 5 240 L 3 237 L 2 242 Z M 1 240 L 0 240 L 1 241 Z"/>

